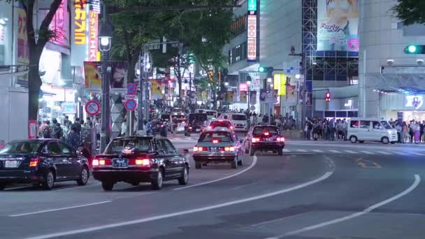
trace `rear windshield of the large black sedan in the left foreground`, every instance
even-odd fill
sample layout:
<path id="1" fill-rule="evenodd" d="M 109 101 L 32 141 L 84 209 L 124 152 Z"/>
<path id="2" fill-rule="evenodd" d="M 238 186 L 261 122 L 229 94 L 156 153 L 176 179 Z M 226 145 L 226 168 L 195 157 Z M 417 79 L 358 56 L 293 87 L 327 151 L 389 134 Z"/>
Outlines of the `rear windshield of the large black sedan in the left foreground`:
<path id="1" fill-rule="evenodd" d="M 150 152 L 151 149 L 149 138 L 116 138 L 106 147 L 105 153 L 121 153 L 124 150 Z"/>

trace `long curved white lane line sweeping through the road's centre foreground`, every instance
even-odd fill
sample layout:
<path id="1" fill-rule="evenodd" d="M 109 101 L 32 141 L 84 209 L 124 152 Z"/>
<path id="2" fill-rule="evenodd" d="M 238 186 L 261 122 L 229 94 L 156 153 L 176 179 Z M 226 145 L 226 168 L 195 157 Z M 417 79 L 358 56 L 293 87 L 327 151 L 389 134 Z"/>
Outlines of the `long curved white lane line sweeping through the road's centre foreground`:
<path id="1" fill-rule="evenodd" d="M 129 225 L 133 225 L 133 224 L 141 224 L 141 223 L 144 223 L 144 222 L 152 222 L 152 221 L 157 221 L 159 219 L 166 219 L 166 218 L 170 218 L 170 217 L 178 217 L 178 216 L 182 216 L 182 215 L 192 214 L 192 213 L 195 213 L 195 212 L 203 212 L 203 211 L 206 211 L 206 210 L 223 208 L 223 207 L 227 207 L 229 205 L 247 203 L 247 202 L 259 200 L 259 199 L 262 199 L 262 198 L 268 198 L 268 197 L 271 197 L 271 196 L 284 194 L 284 193 L 287 193 L 289 191 L 294 191 L 296 189 L 302 189 L 303 187 L 308 187 L 312 184 L 316 184 L 317 182 L 322 182 L 323 180 L 326 180 L 326 178 L 329 178 L 329 176 L 331 176 L 332 174 L 333 174 L 333 171 L 328 171 L 324 175 L 322 175 L 320 178 L 317 178 L 315 180 L 311 180 L 311 181 L 308 181 L 308 182 L 304 182 L 302 184 L 298 184 L 294 187 L 289 187 L 287 189 L 282 189 L 282 190 L 279 190 L 279 191 L 273 191 L 273 192 L 268 193 L 268 194 L 260 194 L 258 196 L 252 196 L 250 198 L 243 198 L 243 199 L 239 199 L 239 200 L 236 200 L 236 201 L 229 201 L 227 203 L 219 203 L 219 204 L 216 204 L 216 205 L 210 205 L 208 207 L 195 208 L 195 209 L 192 209 L 192 210 L 174 212 L 174 213 L 159 215 L 159 216 L 154 216 L 154 217 L 146 217 L 146 218 L 131 220 L 131 221 L 127 221 L 127 222 L 118 222 L 118 223 L 114 223 L 114 224 L 106 224 L 106 225 L 103 225 L 103 226 L 92 226 L 92 227 L 88 227 L 86 229 L 78 229 L 78 230 L 73 230 L 73 231 L 62 231 L 62 232 L 59 232 L 59 233 L 45 234 L 45 235 L 41 235 L 41 236 L 34 236 L 34 237 L 31 237 L 31 238 L 27 238 L 27 239 L 46 239 L 46 238 L 57 238 L 57 237 L 61 237 L 61 236 L 70 236 L 70 235 L 75 235 L 75 234 L 79 234 L 79 233 L 88 233 L 88 232 L 99 231 L 99 230 L 104 230 L 104 229 L 112 229 L 112 228 L 116 228 L 116 227 L 120 227 L 120 226 L 129 226 Z"/>

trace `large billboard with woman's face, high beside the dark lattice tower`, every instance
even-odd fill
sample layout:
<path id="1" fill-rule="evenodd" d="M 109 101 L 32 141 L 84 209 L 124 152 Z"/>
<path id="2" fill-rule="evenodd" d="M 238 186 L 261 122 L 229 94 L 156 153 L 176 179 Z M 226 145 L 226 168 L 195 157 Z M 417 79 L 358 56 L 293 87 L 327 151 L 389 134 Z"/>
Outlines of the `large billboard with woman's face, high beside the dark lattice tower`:
<path id="1" fill-rule="evenodd" d="M 317 50 L 359 51 L 358 0 L 317 0 Z"/>

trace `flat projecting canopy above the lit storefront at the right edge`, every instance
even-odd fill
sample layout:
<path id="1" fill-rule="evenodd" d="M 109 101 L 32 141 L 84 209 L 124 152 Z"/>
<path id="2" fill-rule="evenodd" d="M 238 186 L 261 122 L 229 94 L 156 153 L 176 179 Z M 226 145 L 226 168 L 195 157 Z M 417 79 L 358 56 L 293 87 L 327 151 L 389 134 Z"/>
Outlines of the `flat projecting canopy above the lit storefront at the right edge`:
<path id="1" fill-rule="evenodd" d="M 402 94 L 424 94 L 425 74 L 422 73 L 370 73 L 366 80 L 374 80 L 375 90 Z"/>

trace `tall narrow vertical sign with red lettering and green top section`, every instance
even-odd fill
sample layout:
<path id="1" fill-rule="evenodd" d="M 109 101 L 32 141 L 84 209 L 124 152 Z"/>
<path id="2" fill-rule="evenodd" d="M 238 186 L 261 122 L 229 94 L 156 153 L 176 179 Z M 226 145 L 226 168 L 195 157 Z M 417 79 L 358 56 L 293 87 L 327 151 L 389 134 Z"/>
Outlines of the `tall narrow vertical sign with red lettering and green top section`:
<path id="1" fill-rule="evenodd" d="M 247 62 L 257 61 L 257 0 L 248 1 Z"/>

